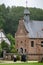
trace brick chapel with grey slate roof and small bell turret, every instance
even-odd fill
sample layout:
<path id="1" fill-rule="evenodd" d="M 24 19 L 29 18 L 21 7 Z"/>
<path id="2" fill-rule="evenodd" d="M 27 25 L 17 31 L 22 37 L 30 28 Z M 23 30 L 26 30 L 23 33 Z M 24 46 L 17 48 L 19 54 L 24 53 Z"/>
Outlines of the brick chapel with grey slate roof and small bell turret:
<path id="1" fill-rule="evenodd" d="M 43 21 L 30 20 L 28 8 L 24 9 L 24 19 L 19 20 L 15 47 L 19 54 L 26 54 L 28 60 L 43 58 Z"/>

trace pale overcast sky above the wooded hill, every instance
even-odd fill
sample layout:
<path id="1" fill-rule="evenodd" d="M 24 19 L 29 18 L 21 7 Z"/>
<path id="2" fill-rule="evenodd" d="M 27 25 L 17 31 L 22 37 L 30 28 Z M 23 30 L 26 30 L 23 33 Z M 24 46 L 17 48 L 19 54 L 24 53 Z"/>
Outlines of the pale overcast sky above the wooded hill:
<path id="1" fill-rule="evenodd" d="M 43 0 L 27 0 L 28 7 L 37 7 L 43 9 Z M 6 6 L 24 6 L 26 7 L 26 0 L 0 0 L 0 4 L 4 3 Z"/>

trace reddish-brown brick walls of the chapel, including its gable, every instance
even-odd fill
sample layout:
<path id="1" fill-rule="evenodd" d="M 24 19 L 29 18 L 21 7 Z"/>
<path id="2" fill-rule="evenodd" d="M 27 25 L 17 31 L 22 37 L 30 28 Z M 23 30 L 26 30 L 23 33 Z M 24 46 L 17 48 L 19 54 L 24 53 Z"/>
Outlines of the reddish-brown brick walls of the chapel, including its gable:
<path id="1" fill-rule="evenodd" d="M 43 39 L 30 39 L 28 32 L 25 29 L 23 20 L 19 21 L 18 29 L 15 34 L 15 47 L 20 49 L 21 47 L 27 54 L 43 54 L 43 47 L 41 47 L 41 41 Z M 31 41 L 34 41 L 34 47 L 31 47 Z M 29 60 L 38 60 L 41 56 L 39 55 L 27 55 Z"/>

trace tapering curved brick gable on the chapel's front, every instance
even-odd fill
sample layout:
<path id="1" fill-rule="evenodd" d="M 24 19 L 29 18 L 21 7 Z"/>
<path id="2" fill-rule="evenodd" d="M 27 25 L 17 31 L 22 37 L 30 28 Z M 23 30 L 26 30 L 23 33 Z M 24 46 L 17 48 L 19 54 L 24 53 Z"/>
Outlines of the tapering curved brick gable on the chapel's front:
<path id="1" fill-rule="evenodd" d="M 24 20 L 20 20 L 16 35 L 26 35 L 26 34 L 27 34 L 27 31 L 24 26 Z"/>

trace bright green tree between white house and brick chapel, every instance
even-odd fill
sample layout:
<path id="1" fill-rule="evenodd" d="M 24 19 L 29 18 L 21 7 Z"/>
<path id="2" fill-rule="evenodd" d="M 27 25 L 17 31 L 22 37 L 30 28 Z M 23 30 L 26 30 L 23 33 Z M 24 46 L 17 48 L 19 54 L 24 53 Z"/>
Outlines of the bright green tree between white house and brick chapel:
<path id="1" fill-rule="evenodd" d="M 17 50 L 15 48 L 15 39 L 14 39 L 14 37 L 10 33 L 7 34 L 7 37 L 11 42 L 11 44 L 10 44 L 10 52 L 11 53 L 17 53 Z"/>

